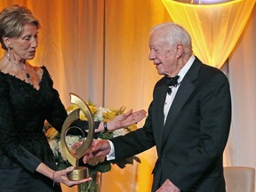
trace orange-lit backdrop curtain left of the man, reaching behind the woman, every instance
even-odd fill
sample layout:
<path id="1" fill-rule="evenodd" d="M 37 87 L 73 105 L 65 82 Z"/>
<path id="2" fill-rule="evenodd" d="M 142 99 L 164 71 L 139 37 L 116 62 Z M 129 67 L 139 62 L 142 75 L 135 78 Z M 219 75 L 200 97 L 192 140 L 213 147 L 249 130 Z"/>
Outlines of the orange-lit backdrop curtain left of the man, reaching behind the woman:
<path id="1" fill-rule="evenodd" d="M 149 31 L 171 20 L 161 1 L 1 0 L 0 9 L 11 4 L 27 6 L 40 20 L 29 62 L 48 68 L 66 107 L 75 92 L 99 107 L 147 110 L 160 78 L 148 60 Z M 139 156 L 141 164 L 104 173 L 101 191 L 149 191 L 156 150 Z"/>

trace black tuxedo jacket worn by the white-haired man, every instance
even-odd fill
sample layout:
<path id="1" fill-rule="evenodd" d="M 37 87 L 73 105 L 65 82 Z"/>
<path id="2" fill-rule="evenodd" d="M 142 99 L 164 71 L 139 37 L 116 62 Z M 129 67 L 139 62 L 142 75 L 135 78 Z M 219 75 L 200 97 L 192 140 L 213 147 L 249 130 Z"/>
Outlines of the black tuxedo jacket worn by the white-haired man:
<path id="1" fill-rule="evenodd" d="M 144 126 L 112 140 L 116 159 L 156 146 L 152 191 L 166 179 L 183 192 L 225 191 L 222 154 L 231 121 L 228 78 L 196 58 L 164 125 L 166 91 L 163 77 L 156 83 Z"/>

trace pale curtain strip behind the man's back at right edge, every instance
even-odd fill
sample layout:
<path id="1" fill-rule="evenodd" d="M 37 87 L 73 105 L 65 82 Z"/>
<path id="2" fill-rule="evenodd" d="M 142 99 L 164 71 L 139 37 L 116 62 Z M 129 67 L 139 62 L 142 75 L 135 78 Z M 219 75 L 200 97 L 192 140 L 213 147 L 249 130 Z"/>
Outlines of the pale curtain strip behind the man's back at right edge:
<path id="1" fill-rule="evenodd" d="M 229 136 L 230 164 L 256 168 L 256 6 L 244 33 L 228 59 L 232 92 L 232 132 Z M 256 191 L 256 188 L 255 188 Z"/>

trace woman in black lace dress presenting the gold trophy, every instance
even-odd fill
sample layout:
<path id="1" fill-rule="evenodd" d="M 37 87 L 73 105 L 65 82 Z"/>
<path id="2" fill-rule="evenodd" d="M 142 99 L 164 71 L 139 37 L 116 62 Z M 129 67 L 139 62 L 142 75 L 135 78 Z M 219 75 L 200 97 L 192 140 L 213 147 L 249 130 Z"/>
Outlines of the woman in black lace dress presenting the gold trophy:
<path id="1" fill-rule="evenodd" d="M 5 50 L 0 60 L 0 188 L 2 191 L 61 191 L 91 179 L 71 181 L 68 167 L 57 170 L 44 136 L 44 120 L 59 132 L 67 117 L 59 93 L 45 67 L 27 60 L 36 54 L 39 21 L 25 7 L 12 5 L 0 12 L 0 41 Z M 140 121 L 144 110 L 116 116 L 108 123 L 115 130 Z M 97 124 L 97 132 L 106 124 Z M 55 181 L 55 185 L 52 186 Z"/>

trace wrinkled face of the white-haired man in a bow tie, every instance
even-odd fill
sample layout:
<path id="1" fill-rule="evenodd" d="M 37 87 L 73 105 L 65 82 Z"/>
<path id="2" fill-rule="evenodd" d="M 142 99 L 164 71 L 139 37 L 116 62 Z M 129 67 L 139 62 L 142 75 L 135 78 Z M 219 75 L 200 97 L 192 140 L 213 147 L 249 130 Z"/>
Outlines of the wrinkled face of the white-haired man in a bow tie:
<path id="1" fill-rule="evenodd" d="M 150 53 L 148 59 L 154 62 L 159 75 L 170 75 L 178 58 L 175 55 L 174 47 L 164 43 L 161 36 L 163 36 L 163 31 L 161 30 L 156 30 L 150 36 L 148 44 Z"/>

